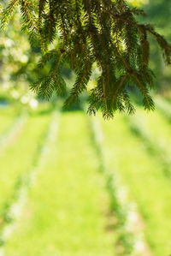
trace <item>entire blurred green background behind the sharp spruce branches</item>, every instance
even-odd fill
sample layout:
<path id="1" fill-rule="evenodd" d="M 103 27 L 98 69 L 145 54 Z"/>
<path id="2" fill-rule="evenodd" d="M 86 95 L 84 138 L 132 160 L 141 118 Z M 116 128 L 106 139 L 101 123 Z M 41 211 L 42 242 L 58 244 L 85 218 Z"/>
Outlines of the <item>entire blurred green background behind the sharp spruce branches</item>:
<path id="1" fill-rule="evenodd" d="M 171 42 L 170 0 L 127 2 Z M 156 110 L 132 92 L 136 114 L 103 121 L 82 110 L 86 94 L 60 111 L 62 98 L 29 90 L 49 67 L 35 68 L 17 11 L 1 32 L 0 255 L 171 255 L 171 68 L 150 40 Z"/>

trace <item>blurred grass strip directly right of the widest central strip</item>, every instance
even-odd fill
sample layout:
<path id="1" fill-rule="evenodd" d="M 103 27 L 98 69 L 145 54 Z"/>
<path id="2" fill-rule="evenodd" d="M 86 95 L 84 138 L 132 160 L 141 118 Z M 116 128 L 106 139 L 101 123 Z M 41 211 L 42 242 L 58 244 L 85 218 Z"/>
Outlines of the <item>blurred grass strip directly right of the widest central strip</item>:
<path id="1" fill-rule="evenodd" d="M 170 253 L 171 210 L 170 181 L 162 174 L 162 166 L 151 158 L 142 140 L 134 136 L 124 116 L 103 122 L 104 142 L 109 166 L 116 166 L 144 218 L 144 235 L 155 256 Z M 115 156 L 115 163 L 114 163 Z"/>

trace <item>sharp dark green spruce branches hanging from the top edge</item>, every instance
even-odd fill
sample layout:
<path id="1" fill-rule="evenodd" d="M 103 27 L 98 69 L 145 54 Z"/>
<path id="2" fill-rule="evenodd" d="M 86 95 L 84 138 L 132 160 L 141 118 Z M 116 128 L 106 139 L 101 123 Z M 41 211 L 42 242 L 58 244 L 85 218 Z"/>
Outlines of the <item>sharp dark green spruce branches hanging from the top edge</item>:
<path id="1" fill-rule="evenodd" d="M 171 63 L 171 46 L 153 27 L 136 21 L 135 15 L 144 16 L 142 10 L 131 9 L 124 0 L 13 0 L 3 10 L 1 27 L 15 5 L 21 8 L 23 30 L 42 50 L 38 67 L 51 63 L 50 74 L 31 86 L 34 91 L 47 98 L 53 91 L 65 93 L 61 68 L 67 62 L 76 74 L 66 100 L 66 105 L 71 104 L 87 89 L 96 63 L 100 75 L 97 86 L 89 91 L 89 113 L 101 109 L 106 118 L 115 110 L 133 113 L 129 85 L 139 88 L 145 109 L 154 109 L 149 94 L 153 76 L 148 68 L 149 34 L 160 45 L 167 64 Z"/>

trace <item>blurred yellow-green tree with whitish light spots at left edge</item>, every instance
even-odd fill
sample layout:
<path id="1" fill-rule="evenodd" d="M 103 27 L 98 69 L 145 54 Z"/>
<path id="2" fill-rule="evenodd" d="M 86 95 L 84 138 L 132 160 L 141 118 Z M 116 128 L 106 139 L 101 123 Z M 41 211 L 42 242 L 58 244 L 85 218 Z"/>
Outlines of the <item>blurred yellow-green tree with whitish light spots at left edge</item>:
<path id="1" fill-rule="evenodd" d="M 38 79 L 31 72 L 38 57 L 30 46 L 27 35 L 21 33 L 20 18 L 21 15 L 16 10 L 8 29 L 1 33 L 0 80 L 1 89 L 9 88 L 13 91 L 16 88 L 18 92 L 26 92 L 28 83 Z"/>

